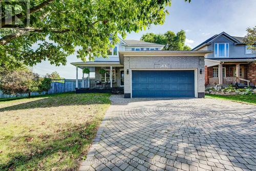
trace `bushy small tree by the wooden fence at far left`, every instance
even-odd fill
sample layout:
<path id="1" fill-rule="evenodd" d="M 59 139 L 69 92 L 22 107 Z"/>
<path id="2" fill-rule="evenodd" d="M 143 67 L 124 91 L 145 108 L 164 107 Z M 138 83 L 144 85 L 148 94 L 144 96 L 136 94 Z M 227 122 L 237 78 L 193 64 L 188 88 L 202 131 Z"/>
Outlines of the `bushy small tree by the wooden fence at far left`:
<path id="1" fill-rule="evenodd" d="M 51 82 L 47 78 L 41 78 L 28 68 L 8 69 L 1 66 L 0 70 L 0 89 L 5 94 L 22 94 L 31 92 L 48 91 L 51 88 Z"/>

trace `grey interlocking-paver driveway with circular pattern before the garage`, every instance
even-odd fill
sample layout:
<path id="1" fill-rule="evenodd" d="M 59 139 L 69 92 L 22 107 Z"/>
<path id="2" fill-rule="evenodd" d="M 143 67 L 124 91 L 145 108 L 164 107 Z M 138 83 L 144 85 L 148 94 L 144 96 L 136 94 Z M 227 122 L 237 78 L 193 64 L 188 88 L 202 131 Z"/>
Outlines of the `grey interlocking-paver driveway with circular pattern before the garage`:
<path id="1" fill-rule="evenodd" d="M 111 100 L 80 170 L 256 170 L 255 105 Z"/>

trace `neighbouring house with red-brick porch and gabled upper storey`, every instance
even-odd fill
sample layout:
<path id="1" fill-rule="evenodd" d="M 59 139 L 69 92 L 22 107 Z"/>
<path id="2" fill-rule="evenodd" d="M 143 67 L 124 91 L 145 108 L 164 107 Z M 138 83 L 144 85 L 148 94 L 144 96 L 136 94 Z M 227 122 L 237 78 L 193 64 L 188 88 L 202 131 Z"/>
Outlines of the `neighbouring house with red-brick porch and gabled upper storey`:
<path id="1" fill-rule="evenodd" d="M 243 37 L 222 32 L 192 50 L 213 51 L 205 56 L 206 85 L 256 84 L 256 57 L 244 44 Z"/>

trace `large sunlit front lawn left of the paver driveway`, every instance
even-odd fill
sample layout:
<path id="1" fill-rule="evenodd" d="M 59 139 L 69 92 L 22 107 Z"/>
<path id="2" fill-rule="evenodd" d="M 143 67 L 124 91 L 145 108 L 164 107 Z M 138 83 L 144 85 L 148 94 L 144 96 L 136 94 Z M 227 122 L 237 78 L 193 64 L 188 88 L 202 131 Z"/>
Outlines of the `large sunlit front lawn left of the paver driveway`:
<path id="1" fill-rule="evenodd" d="M 0 101 L 0 170 L 77 170 L 109 94 L 56 94 Z"/>

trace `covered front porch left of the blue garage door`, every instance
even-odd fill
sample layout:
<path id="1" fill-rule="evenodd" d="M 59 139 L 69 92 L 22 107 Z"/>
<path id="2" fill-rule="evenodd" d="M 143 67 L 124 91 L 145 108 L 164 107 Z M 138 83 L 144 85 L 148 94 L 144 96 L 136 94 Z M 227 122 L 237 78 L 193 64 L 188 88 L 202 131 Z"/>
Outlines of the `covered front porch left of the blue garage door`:
<path id="1" fill-rule="evenodd" d="M 112 93 L 123 94 L 124 71 L 119 62 L 74 62 L 76 66 L 76 93 Z M 82 70 L 88 68 L 89 74 Z M 82 83 L 78 83 L 79 69 Z M 92 78 L 94 73 L 95 77 Z"/>

